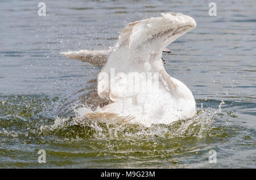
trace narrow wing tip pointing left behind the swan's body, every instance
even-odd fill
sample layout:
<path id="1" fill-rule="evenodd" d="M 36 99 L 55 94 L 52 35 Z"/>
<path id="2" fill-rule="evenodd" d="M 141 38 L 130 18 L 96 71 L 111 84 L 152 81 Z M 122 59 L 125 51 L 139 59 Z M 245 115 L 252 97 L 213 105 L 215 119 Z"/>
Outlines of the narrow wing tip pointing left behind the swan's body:
<path id="1" fill-rule="evenodd" d="M 108 61 L 108 57 L 112 52 L 112 47 L 108 50 L 80 50 L 78 52 L 63 52 L 69 59 L 78 59 L 82 62 L 88 62 L 96 67 L 103 67 Z"/>

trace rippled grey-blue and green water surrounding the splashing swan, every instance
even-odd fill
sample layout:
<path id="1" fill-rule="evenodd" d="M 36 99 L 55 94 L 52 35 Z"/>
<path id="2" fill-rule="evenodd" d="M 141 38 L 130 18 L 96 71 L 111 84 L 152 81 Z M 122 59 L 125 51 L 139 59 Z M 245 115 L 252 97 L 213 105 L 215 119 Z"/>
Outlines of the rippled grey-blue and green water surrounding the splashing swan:
<path id="1" fill-rule="evenodd" d="M 1 168 L 255 168 L 256 3 L 214 1 L 0 2 Z M 60 52 L 107 49 L 129 22 L 161 12 L 197 27 L 168 46 L 167 72 L 193 92 L 198 114 L 171 125 L 108 125 L 69 114 L 72 93 L 99 68 Z M 38 163 L 39 149 L 46 164 Z M 209 150 L 217 163 L 208 162 Z"/>

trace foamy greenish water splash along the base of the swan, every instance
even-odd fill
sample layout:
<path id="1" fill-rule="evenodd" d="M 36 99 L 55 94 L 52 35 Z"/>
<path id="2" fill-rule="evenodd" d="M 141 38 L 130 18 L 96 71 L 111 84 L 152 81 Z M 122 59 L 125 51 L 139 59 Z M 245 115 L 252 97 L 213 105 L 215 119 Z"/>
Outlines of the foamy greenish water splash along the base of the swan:
<path id="1" fill-rule="evenodd" d="M 69 138 L 93 139 L 171 139 L 177 137 L 205 138 L 209 135 L 217 112 L 213 109 L 199 109 L 191 119 L 182 119 L 169 125 L 152 124 L 146 127 L 138 124 L 113 123 L 86 118 L 87 108 L 74 109 L 75 117 L 57 117 L 53 125 L 40 128 L 46 134 L 59 134 Z"/>

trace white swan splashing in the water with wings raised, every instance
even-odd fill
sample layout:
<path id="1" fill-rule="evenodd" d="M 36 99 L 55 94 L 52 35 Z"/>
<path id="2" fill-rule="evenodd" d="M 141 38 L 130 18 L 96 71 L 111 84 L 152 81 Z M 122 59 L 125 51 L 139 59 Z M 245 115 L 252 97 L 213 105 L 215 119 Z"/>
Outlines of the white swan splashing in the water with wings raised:
<path id="1" fill-rule="evenodd" d="M 109 50 L 62 53 L 97 67 L 104 65 L 97 93 L 110 104 L 94 111 L 86 109 L 85 115 L 146 126 L 192 118 L 196 102 L 191 91 L 167 74 L 161 57 L 167 45 L 195 27 L 193 18 L 168 12 L 129 23 Z"/>

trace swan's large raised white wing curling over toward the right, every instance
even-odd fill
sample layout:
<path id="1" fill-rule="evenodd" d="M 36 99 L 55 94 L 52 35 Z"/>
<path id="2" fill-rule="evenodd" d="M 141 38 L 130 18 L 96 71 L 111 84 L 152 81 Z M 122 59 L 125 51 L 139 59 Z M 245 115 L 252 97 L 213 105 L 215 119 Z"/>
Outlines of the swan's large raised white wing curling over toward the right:
<path id="1" fill-rule="evenodd" d="M 117 45 L 98 76 L 98 95 L 109 96 L 112 101 L 130 97 L 127 89 L 132 84 L 126 83 L 130 72 L 159 73 L 159 82 L 168 91 L 175 93 L 176 84 L 164 70 L 162 52 L 172 41 L 195 27 L 193 18 L 172 12 L 162 14 L 162 17 L 129 23 L 119 35 Z M 111 70 L 114 70 L 114 76 Z M 122 75 L 117 76 L 119 72 Z M 104 78 L 105 74 L 110 79 Z"/>

